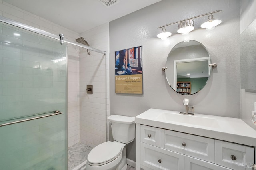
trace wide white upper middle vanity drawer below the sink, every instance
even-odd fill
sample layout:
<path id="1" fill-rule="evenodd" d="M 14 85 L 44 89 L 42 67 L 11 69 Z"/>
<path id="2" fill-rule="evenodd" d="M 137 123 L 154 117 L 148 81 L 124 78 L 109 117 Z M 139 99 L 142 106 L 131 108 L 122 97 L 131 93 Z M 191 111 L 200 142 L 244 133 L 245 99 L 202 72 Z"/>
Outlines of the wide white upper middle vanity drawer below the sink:
<path id="1" fill-rule="evenodd" d="M 161 129 L 161 148 L 214 163 L 214 139 Z"/>

